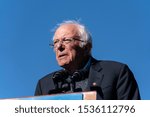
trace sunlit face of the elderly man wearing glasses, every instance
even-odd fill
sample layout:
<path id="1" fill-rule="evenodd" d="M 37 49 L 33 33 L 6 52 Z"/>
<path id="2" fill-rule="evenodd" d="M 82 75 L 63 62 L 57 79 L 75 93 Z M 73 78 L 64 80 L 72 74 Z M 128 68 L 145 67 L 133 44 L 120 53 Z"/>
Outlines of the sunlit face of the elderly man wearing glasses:
<path id="1" fill-rule="evenodd" d="M 57 40 L 59 43 L 54 48 L 56 52 L 56 60 L 62 67 L 77 66 L 82 58 L 83 49 L 79 46 L 80 41 L 71 41 L 66 44 L 62 40 L 67 38 L 79 38 L 77 27 L 73 24 L 65 24 L 59 27 L 54 34 L 54 42 Z"/>

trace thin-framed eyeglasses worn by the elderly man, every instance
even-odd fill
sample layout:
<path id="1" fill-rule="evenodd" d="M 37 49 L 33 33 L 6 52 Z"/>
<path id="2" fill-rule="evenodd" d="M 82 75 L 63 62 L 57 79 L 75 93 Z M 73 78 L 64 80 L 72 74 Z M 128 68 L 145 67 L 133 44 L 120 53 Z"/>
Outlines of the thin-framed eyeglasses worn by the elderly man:
<path id="1" fill-rule="evenodd" d="M 81 42 L 85 42 L 84 40 L 81 40 L 81 39 L 77 39 L 77 38 L 64 38 L 62 40 L 59 40 L 59 39 L 56 39 L 53 44 L 49 44 L 50 47 L 52 48 L 57 48 L 59 43 L 61 42 L 62 44 L 69 44 L 69 43 L 72 43 L 73 41 L 81 41 Z"/>

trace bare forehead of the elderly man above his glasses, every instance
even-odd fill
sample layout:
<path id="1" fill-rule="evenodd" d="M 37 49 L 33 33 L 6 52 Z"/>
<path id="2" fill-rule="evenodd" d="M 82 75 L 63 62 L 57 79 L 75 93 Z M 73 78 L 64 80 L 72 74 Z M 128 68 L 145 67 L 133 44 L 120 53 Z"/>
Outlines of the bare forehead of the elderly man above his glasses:
<path id="1" fill-rule="evenodd" d="M 80 36 L 77 25 L 64 24 L 57 28 L 54 34 L 54 39 Z"/>

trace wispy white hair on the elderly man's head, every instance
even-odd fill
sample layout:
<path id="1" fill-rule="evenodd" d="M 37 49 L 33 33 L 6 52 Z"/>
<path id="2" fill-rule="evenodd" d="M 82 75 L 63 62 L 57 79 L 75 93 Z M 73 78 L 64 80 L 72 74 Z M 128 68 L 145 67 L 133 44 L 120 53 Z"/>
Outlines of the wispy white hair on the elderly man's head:
<path id="1" fill-rule="evenodd" d="M 57 28 L 59 28 L 62 25 L 65 25 L 65 24 L 74 24 L 74 25 L 77 26 L 78 31 L 79 31 L 79 35 L 81 37 L 81 40 L 84 41 L 84 42 L 81 42 L 80 47 L 84 47 L 86 45 L 89 45 L 92 48 L 92 37 L 91 37 L 91 34 L 87 30 L 87 28 L 83 24 L 81 24 L 79 21 L 75 21 L 75 20 L 63 21 L 62 23 L 57 24 L 57 27 L 55 27 L 54 32 L 57 30 Z M 53 37 L 53 40 L 54 40 L 54 37 Z"/>

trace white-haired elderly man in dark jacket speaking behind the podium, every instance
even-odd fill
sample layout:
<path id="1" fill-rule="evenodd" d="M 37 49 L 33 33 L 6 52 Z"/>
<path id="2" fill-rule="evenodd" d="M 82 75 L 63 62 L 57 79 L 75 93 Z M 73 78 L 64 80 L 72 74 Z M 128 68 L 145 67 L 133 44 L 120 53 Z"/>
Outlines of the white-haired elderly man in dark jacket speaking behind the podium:
<path id="1" fill-rule="evenodd" d="M 40 79 L 35 95 L 96 90 L 97 99 L 140 99 L 138 85 L 127 65 L 92 57 L 92 37 L 84 25 L 76 21 L 61 23 L 50 45 L 63 69 Z"/>

